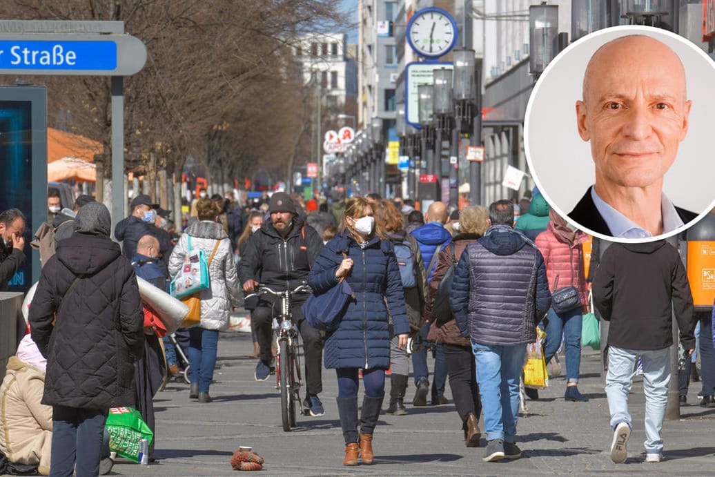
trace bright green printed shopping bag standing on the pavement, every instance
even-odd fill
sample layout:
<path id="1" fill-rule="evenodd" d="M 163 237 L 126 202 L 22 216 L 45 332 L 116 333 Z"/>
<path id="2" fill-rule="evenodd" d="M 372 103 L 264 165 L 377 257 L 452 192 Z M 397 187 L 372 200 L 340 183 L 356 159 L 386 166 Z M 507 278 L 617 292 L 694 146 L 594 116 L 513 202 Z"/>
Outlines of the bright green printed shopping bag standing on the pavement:
<path id="1" fill-rule="evenodd" d="M 134 408 L 110 408 L 107 423 L 109 450 L 118 456 L 139 463 L 139 441 L 147 439 L 152 445 L 154 433 L 142 420 L 142 414 Z"/>

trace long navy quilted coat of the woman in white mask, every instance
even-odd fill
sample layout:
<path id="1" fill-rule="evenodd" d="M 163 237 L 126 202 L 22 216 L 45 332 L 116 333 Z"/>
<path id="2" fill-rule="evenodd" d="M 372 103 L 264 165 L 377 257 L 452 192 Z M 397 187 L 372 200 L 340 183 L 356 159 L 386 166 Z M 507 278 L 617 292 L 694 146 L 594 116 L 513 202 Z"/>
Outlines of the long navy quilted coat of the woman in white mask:
<path id="1" fill-rule="evenodd" d="M 350 234 L 336 235 L 323 247 L 308 275 L 313 290 L 322 292 L 335 286 L 335 271 L 342 262 L 342 252 L 353 261 L 347 282 L 355 300 L 348 305 L 337 330 L 325 337 L 325 368 L 387 369 L 388 314 L 392 316 L 395 334 L 410 333 L 393 245 L 375 237 L 361 248 Z"/>

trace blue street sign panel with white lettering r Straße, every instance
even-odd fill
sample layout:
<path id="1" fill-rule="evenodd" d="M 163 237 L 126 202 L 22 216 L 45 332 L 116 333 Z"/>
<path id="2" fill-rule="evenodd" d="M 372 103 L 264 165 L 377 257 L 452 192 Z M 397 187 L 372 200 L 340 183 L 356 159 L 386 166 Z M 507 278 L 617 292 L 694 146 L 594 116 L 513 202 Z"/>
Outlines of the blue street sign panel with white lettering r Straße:
<path id="1" fill-rule="evenodd" d="M 111 71 L 116 68 L 114 41 L 0 41 L 0 69 Z"/>

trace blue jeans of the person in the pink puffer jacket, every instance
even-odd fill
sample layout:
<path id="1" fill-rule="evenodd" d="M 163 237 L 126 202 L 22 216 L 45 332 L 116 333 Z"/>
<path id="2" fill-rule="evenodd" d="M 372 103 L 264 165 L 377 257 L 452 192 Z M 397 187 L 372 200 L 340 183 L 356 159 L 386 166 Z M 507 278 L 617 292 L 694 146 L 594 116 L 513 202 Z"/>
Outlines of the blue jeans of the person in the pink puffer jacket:
<path id="1" fill-rule="evenodd" d="M 566 381 L 578 383 L 578 369 L 581 368 L 581 308 L 559 315 L 553 308 L 546 315 L 546 343 L 543 346 L 544 358 L 548 363 L 561 346 L 561 335 L 566 343 Z"/>

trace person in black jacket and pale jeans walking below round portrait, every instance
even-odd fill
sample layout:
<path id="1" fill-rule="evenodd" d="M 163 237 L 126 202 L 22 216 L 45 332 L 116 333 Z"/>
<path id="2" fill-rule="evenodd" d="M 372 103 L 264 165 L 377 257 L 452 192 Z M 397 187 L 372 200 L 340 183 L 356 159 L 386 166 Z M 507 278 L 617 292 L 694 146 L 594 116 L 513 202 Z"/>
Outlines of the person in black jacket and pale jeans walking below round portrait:
<path id="1" fill-rule="evenodd" d="M 678 251 L 665 240 L 614 243 L 603 252 L 596 270 L 593 305 L 603 320 L 611 322 L 606 375 L 613 428 L 611 460 L 621 463 L 628 456 L 626 445 L 633 428 L 628 393 L 640 356 L 646 394 L 646 462 L 660 462 L 671 375 L 673 312 L 683 348 L 689 353 L 695 348 L 693 296 Z"/>

